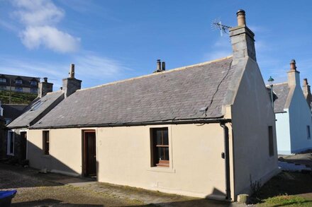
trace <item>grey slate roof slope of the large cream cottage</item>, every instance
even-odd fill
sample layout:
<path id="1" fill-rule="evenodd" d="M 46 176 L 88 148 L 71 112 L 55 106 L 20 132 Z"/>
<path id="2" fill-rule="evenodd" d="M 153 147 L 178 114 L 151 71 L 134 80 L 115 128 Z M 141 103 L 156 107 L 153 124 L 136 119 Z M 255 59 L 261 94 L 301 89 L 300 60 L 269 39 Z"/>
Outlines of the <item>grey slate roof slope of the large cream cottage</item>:
<path id="1" fill-rule="evenodd" d="M 32 129 L 223 117 L 232 57 L 77 90 Z M 213 102 L 211 102 L 213 100 Z M 208 107 L 205 112 L 199 110 Z"/>

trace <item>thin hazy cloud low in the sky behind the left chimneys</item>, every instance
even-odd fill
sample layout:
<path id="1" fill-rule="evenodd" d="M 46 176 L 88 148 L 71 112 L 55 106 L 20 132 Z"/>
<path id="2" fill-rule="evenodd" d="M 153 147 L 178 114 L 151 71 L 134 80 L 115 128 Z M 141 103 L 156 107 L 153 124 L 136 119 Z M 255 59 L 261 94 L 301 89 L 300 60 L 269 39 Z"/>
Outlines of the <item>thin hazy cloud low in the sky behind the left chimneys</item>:
<path id="1" fill-rule="evenodd" d="M 129 78 L 132 69 L 124 66 L 120 61 L 102 57 L 99 54 L 85 52 L 72 57 L 75 64 L 76 78 L 82 80 L 84 88 L 112 81 Z M 13 57 L 0 57 L 0 73 L 16 74 L 19 76 L 48 77 L 54 83 L 54 90 L 62 86 L 62 78 L 67 78 L 70 62 L 68 61 L 33 61 Z"/>

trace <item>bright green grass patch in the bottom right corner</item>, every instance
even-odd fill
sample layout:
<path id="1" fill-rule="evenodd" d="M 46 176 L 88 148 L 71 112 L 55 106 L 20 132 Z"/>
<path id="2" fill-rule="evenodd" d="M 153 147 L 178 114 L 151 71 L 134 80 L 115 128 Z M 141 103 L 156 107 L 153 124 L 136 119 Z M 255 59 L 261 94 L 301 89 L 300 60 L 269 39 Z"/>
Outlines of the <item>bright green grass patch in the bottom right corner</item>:
<path id="1" fill-rule="evenodd" d="M 259 206 L 312 206 L 312 201 L 300 196 L 274 196 L 264 199 L 264 203 Z"/>

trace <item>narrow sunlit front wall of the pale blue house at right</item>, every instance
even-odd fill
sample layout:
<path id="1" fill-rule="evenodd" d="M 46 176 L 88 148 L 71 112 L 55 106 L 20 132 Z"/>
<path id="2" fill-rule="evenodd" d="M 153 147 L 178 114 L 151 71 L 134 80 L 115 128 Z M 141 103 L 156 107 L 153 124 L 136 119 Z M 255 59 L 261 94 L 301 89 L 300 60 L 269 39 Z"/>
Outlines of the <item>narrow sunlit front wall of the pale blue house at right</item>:
<path id="1" fill-rule="evenodd" d="M 289 110 L 285 109 L 284 113 L 277 113 L 277 152 L 279 155 L 291 154 L 291 141 L 289 129 Z"/>

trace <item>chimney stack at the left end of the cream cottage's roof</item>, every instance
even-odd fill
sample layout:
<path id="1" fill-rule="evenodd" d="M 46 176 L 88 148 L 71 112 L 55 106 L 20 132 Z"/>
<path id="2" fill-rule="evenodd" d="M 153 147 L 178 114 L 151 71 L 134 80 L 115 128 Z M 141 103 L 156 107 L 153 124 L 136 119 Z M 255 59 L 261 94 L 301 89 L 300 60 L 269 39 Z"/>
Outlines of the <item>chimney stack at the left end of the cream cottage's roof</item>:
<path id="1" fill-rule="evenodd" d="M 65 98 L 75 93 L 76 90 L 82 88 L 82 81 L 74 78 L 74 64 L 70 65 L 69 77 L 63 79 L 62 90 L 65 93 Z"/>

